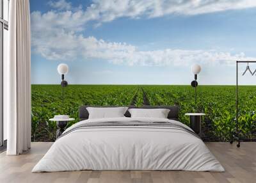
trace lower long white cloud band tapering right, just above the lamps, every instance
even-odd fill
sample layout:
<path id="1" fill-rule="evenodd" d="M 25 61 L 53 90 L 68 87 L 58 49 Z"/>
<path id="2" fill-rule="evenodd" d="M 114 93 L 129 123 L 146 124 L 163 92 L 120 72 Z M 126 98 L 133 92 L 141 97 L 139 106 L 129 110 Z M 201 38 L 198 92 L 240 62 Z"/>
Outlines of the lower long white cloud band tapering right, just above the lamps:
<path id="1" fill-rule="evenodd" d="M 163 49 L 156 51 L 140 51 L 138 47 L 125 43 L 105 42 L 93 36 L 84 37 L 72 31 L 63 29 L 50 33 L 48 31 L 33 31 L 33 49 L 48 60 L 72 61 L 77 59 L 99 59 L 114 64 L 124 65 L 191 65 L 203 63 L 208 65 L 232 64 L 235 60 L 250 59 L 243 53 Z"/>

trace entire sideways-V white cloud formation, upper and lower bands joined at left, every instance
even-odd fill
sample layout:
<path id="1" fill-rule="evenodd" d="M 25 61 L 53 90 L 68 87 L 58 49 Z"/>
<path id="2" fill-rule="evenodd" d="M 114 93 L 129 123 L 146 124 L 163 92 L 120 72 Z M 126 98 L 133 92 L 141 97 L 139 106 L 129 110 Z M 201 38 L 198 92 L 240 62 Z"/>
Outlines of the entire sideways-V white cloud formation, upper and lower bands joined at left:
<path id="1" fill-rule="evenodd" d="M 59 4 L 62 2 L 63 4 Z M 178 3 L 177 3 L 178 2 Z M 140 51 L 138 47 L 126 43 L 106 42 L 93 36 L 84 37 L 81 31 L 86 22 L 95 20 L 97 24 L 118 17 L 159 17 L 170 13 L 195 15 L 256 6 L 256 1 L 233 0 L 180 0 L 180 1 L 98 1 L 82 10 L 72 9 L 70 3 L 60 0 L 51 6 L 58 10 L 46 13 L 31 13 L 32 49 L 48 60 L 99 59 L 114 64 L 125 65 L 190 65 L 191 63 L 230 64 L 234 60 L 250 59 L 243 53 L 163 49 Z M 70 10 L 72 9 L 72 10 Z M 65 11 L 60 11 L 65 10 Z M 66 11 L 67 10 L 67 11 Z"/>

